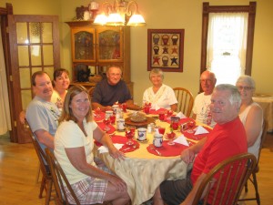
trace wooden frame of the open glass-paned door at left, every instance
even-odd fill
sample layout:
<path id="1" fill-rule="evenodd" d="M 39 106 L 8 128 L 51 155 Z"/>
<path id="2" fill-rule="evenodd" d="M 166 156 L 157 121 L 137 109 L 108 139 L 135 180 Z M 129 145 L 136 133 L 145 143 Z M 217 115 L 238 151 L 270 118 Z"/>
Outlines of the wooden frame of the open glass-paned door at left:
<path id="1" fill-rule="evenodd" d="M 52 34 L 53 34 L 53 65 L 44 65 L 43 59 L 41 61 L 41 68 L 44 70 L 46 67 L 53 67 L 54 69 L 60 67 L 60 44 L 59 44 L 59 29 L 58 29 L 58 16 L 57 15 L 8 15 L 8 27 L 9 27 L 9 45 L 10 45 L 10 72 L 12 73 L 12 82 L 13 83 L 13 97 L 15 103 L 14 118 L 15 118 L 15 142 L 18 143 L 27 143 L 31 142 L 28 138 L 28 134 L 25 133 L 25 125 L 20 123 L 19 114 L 23 110 L 22 98 L 20 95 L 21 88 L 20 87 L 20 68 L 18 64 L 18 45 L 17 43 L 17 34 L 16 34 L 16 24 L 17 23 L 27 23 L 27 22 L 51 22 L 52 24 Z M 46 44 L 46 43 L 45 43 Z M 43 52 L 41 53 L 43 56 Z M 31 56 L 28 56 L 31 58 Z M 30 59 L 29 59 L 30 60 Z M 29 69 L 35 67 L 34 65 L 28 65 Z M 30 73 L 30 78 L 32 73 Z M 31 87 L 25 87 L 26 89 L 31 89 L 33 91 L 32 85 Z M 23 89 L 25 89 L 23 88 Z M 19 92 L 19 95 L 15 95 L 15 92 Z M 34 93 L 32 92 L 32 97 L 34 97 Z"/>

